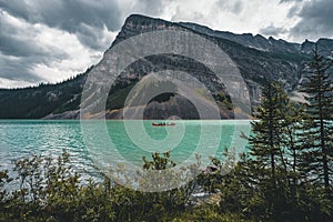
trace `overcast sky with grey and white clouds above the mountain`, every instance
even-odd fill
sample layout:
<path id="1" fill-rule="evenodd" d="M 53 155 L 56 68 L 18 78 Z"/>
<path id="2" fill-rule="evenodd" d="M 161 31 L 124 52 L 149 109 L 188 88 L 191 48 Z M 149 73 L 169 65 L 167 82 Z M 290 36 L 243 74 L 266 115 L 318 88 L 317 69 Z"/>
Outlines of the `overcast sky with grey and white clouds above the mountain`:
<path id="1" fill-rule="evenodd" d="M 332 11 L 333 0 L 0 0 L 0 88 L 83 72 L 131 13 L 303 42 L 333 38 Z"/>

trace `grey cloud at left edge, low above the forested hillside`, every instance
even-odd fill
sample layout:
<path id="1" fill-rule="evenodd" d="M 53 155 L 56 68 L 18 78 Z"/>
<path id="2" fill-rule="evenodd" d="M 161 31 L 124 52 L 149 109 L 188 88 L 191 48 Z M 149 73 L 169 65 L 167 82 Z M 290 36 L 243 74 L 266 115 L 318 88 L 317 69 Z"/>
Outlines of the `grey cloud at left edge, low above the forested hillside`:
<path id="1" fill-rule="evenodd" d="M 36 64 L 49 64 L 67 59 L 69 54 L 59 49 L 46 48 L 33 41 L 39 31 L 19 30 L 6 20 L 0 11 L 0 77 L 28 82 L 41 81 L 32 73 Z M 29 36 L 30 38 L 27 38 Z"/>

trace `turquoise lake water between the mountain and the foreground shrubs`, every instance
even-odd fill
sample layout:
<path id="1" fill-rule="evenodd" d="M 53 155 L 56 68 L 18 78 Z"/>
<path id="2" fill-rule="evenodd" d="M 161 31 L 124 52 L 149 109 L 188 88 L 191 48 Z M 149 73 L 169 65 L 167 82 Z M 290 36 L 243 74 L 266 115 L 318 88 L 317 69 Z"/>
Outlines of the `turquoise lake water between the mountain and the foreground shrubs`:
<path id="1" fill-rule="evenodd" d="M 155 121 L 159 122 L 159 121 Z M 93 173 L 94 165 L 130 162 L 142 165 L 142 155 L 171 150 L 178 164 L 194 153 L 208 160 L 225 148 L 244 151 L 241 132 L 248 120 L 175 121 L 174 127 L 152 127 L 152 121 L 0 120 L 0 169 L 31 154 L 59 155 L 65 149 L 75 169 Z"/>

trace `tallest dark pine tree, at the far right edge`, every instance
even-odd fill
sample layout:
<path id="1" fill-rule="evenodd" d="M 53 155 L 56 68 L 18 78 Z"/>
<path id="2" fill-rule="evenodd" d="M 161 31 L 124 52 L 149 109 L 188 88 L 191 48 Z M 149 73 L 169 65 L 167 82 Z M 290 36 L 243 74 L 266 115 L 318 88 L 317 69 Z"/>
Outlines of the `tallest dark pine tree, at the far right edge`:
<path id="1" fill-rule="evenodd" d="M 323 184 L 326 192 L 332 182 L 333 82 L 332 60 L 313 50 L 307 63 L 302 92 L 305 93 L 306 118 L 303 121 L 303 165 L 309 180 Z"/>

